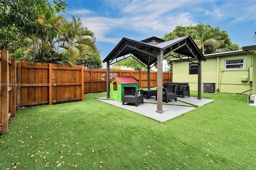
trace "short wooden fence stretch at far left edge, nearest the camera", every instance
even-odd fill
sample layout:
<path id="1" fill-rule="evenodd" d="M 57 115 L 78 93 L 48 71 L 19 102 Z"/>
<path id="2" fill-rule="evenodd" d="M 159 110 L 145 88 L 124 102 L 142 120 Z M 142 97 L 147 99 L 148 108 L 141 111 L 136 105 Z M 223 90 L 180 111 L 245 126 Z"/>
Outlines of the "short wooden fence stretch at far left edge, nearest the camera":
<path id="1" fill-rule="evenodd" d="M 16 115 L 16 60 L 0 51 L 0 133 L 8 132 L 8 120 Z"/>

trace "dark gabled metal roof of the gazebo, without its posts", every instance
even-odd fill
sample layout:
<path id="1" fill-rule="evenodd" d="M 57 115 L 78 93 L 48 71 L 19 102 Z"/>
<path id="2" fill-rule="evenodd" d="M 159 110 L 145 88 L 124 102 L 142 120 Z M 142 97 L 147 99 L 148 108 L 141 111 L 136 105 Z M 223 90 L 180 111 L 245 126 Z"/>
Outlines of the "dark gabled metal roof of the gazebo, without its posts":
<path id="1" fill-rule="evenodd" d="M 103 62 L 110 61 L 110 65 L 116 63 L 120 57 L 126 58 L 134 55 L 145 65 L 152 65 L 157 61 L 157 52 L 163 51 L 163 57 L 171 52 L 195 58 L 198 63 L 206 61 L 206 58 L 190 36 L 165 41 L 157 37 L 151 37 L 140 42 L 122 38 L 116 47 L 108 54 Z"/>

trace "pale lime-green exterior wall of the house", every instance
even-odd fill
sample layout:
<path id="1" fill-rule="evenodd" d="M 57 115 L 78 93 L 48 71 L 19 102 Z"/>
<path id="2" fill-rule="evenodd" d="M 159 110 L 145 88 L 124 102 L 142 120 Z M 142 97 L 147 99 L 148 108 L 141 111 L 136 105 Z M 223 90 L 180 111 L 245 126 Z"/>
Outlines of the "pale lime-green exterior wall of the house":
<path id="1" fill-rule="evenodd" d="M 209 56 L 209 55 L 208 55 Z M 220 55 L 207 57 L 206 62 L 202 61 L 202 90 L 203 83 L 216 83 L 216 89 L 221 93 L 241 93 L 250 88 L 248 68 L 252 64 L 252 56 L 246 53 Z M 243 69 L 225 69 L 225 61 L 233 59 L 244 59 Z M 191 60 L 197 62 L 196 60 Z M 190 90 L 197 91 L 198 75 L 189 74 L 189 63 L 184 60 L 173 60 L 173 82 L 186 82 Z M 252 67 L 250 67 L 250 77 Z M 242 81 L 241 77 L 247 77 Z M 252 80 L 251 80 L 252 81 Z M 246 91 L 245 94 L 249 93 Z"/>

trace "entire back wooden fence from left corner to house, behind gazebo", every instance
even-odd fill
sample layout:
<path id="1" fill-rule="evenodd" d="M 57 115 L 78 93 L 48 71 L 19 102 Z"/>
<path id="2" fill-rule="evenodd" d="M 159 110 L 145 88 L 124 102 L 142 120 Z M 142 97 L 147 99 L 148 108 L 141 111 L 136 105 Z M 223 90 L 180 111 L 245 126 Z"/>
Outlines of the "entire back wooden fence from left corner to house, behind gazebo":
<path id="1" fill-rule="evenodd" d="M 106 69 L 84 69 L 78 65 L 17 62 L 17 107 L 84 100 L 84 93 L 106 91 Z M 133 76 L 139 88 L 148 87 L 147 71 L 110 70 L 114 77 Z M 163 83 L 172 81 L 163 72 Z M 82 83 L 83 82 L 83 83 Z M 109 82 L 108 82 L 109 83 Z M 150 72 L 150 87 L 157 86 L 157 72 Z"/>

